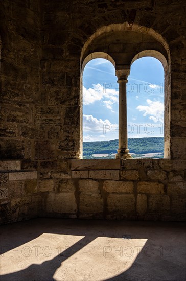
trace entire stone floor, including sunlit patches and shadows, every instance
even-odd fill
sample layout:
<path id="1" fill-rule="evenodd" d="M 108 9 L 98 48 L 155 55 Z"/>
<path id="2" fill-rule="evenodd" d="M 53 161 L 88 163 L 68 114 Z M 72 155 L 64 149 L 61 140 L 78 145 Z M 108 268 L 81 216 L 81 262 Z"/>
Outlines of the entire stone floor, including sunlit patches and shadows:
<path id="1" fill-rule="evenodd" d="M 183 223 L 39 218 L 0 231 L 0 280 L 186 280 Z"/>

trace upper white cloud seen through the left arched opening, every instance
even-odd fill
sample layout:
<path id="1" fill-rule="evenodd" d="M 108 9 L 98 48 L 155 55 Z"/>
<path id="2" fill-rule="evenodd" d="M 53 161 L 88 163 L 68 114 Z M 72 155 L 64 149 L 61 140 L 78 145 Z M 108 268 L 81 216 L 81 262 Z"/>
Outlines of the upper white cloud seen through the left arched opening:
<path id="1" fill-rule="evenodd" d="M 83 86 L 83 105 L 89 105 L 96 101 L 101 101 L 106 108 L 112 110 L 112 105 L 118 102 L 118 91 L 104 88 L 100 84 L 94 84 L 89 89 Z"/>

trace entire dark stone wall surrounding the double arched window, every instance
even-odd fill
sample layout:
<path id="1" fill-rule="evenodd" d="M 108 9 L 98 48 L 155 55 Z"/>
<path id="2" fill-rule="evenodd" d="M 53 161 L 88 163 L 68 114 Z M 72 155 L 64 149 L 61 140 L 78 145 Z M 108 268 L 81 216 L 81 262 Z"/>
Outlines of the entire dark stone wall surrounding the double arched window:
<path id="1" fill-rule="evenodd" d="M 185 8 L 181 0 L 1 1 L 2 223 L 37 216 L 185 219 Z M 82 50 L 105 27 L 124 23 L 128 31 L 159 34 L 170 51 L 170 159 L 112 160 L 112 168 L 100 160 L 83 169 L 83 160 L 74 160 L 79 169 L 71 159 L 82 152 Z"/>

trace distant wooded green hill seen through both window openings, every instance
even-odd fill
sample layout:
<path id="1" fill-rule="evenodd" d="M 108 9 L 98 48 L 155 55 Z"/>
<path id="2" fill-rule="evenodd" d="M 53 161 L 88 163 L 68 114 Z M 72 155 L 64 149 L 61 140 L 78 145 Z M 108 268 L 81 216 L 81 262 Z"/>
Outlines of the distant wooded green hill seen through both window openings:
<path id="1" fill-rule="evenodd" d="M 145 154 L 164 152 L 164 137 L 129 138 L 130 153 Z M 105 142 L 83 142 L 83 155 L 117 153 L 118 139 Z"/>

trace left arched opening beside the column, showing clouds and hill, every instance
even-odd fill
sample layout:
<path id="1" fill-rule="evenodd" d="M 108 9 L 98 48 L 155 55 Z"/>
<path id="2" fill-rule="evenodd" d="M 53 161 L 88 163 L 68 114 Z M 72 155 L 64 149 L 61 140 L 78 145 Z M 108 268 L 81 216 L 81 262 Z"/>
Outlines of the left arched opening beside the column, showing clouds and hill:
<path id="1" fill-rule="evenodd" d="M 107 59 L 92 59 L 83 71 L 83 157 L 103 159 L 111 154 L 104 147 L 104 142 L 115 139 L 118 139 L 115 68 Z M 99 151 L 94 149 L 95 145 Z"/>

